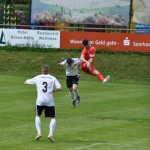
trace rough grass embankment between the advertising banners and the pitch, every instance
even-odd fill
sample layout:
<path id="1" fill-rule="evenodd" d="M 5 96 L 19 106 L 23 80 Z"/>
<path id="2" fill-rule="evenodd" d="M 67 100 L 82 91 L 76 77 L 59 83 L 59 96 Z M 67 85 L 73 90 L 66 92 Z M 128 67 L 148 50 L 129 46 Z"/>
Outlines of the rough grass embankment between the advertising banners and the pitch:
<path id="1" fill-rule="evenodd" d="M 4 50 L 3 50 L 4 49 Z M 43 63 L 50 65 L 51 74 L 58 78 L 65 76 L 64 68 L 57 66 L 62 57 L 80 57 L 81 50 L 59 50 L 40 48 L 0 48 L 1 74 L 16 76 L 34 76 L 40 73 Z M 150 81 L 150 54 L 115 53 L 98 51 L 95 67 L 111 80 Z M 81 78 L 92 80 L 81 72 Z"/>

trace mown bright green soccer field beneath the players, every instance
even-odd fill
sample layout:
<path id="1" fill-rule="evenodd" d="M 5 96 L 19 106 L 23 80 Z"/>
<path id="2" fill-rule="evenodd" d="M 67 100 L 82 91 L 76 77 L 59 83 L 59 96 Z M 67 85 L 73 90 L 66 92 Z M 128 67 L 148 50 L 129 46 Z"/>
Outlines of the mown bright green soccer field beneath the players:
<path id="1" fill-rule="evenodd" d="M 75 109 L 65 81 L 55 93 L 56 143 L 47 139 L 49 120 L 42 115 L 42 138 L 35 141 L 35 86 L 25 77 L 0 76 L 1 150 L 149 150 L 150 84 L 81 81 Z"/>

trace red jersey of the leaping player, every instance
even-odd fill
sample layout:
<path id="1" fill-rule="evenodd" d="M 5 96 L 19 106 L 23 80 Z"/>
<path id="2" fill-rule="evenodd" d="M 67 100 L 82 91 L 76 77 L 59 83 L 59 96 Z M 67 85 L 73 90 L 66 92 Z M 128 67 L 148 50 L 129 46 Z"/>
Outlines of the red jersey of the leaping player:
<path id="1" fill-rule="evenodd" d="M 86 61 L 92 60 L 91 64 L 93 64 L 93 62 L 94 62 L 95 53 L 96 53 L 95 47 L 91 47 L 90 49 L 86 49 L 84 47 L 84 49 L 81 52 L 81 54 L 83 54 L 85 56 L 84 59 Z"/>

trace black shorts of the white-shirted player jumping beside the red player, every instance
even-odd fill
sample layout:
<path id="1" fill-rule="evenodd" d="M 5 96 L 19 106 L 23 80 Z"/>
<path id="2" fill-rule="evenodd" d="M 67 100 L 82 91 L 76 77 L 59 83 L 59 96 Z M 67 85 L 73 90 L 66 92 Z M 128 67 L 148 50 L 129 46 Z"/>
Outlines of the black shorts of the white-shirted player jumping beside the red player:
<path id="1" fill-rule="evenodd" d="M 80 80 L 80 76 L 76 75 L 76 76 L 66 76 L 66 85 L 67 88 L 72 87 L 73 84 L 78 84 Z"/>

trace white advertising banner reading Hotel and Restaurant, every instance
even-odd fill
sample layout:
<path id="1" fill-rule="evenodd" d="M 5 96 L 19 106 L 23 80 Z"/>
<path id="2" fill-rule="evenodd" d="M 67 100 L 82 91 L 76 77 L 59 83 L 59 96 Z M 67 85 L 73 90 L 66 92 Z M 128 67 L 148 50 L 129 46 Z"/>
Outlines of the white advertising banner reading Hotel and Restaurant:
<path id="1" fill-rule="evenodd" d="M 0 46 L 60 48 L 60 31 L 0 29 Z"/>

